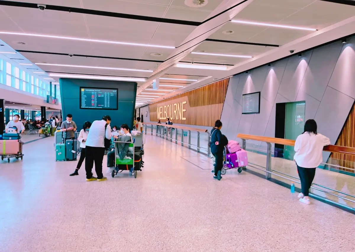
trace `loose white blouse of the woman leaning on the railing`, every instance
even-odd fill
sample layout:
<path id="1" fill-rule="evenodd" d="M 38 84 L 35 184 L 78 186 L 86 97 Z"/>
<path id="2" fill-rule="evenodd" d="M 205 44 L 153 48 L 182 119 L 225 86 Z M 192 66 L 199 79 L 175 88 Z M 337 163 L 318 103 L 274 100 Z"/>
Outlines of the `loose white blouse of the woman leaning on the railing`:
<path id="1" fill-rule="evenodd" d="M 323 147 L 329 144 L 331 142 L 326 136 L 305 132 L 296 139 L 294 160 L 300 167 L 316 168 L 323 161 Z"/>

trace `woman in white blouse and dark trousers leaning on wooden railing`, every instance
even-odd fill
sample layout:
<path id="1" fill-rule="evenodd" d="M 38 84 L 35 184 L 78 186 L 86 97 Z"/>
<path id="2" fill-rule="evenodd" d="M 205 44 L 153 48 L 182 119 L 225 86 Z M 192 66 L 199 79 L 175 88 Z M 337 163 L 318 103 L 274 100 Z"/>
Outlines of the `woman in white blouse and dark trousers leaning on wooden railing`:
<path id="1" fill-rule="evenodd" d="M 322 163 L 323 147 L 331 144 L 329 138 L 317 133 L 317 123 L 309 119 L 305 123 L 305 131 L 299 135 L 295 142 L 294 160 L 297 164 L 298 175 L 301 180 L 302 192 L 298 195 L 300 202 L 309 205 L 308 197 L 316 168 Z"/>

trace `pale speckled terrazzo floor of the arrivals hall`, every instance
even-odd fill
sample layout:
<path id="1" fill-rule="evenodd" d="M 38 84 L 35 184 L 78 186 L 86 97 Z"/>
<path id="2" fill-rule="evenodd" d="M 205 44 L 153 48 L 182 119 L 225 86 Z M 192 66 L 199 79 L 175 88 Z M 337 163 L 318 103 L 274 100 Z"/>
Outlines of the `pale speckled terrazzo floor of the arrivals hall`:
<path id="1" fill-rule="evenodd" d="M 69 177 L 54 138 L 0 162 L 1 252 L 351 252 L 355 216 L 250 173 L 213 180 L 204 156 L 146 135 L 145 165 L 106 181 Z M 104 158 L 104 167 L 106 160 Z"/>

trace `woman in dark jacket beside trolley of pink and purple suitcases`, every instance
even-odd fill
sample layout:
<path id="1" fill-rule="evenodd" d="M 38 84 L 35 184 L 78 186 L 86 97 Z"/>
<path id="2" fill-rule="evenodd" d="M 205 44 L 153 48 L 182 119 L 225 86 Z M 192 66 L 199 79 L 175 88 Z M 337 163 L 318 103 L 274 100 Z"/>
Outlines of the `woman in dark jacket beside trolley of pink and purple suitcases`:
<path id="1" fill-rule="evenodd" d="M 214 176 L 213 179 L 220 180 L 221 170 L 223 168 L 223 150 L 224 146 L 228 144 L 228 139 L 223 135 L 220 131 L 222 128 L 222 122 L 217 120 L 214 123 L 214 128 L 211 130 L 211 152 L 213 156 L 216 158 L 214 164 Z"/>

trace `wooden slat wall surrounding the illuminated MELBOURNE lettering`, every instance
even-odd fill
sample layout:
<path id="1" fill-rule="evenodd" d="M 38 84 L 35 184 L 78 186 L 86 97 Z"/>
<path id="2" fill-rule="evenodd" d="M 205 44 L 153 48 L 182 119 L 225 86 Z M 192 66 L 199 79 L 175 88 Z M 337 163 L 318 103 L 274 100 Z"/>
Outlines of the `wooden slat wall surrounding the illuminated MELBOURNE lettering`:
<path id="1" fill-rule="evenodd" d="M 223 103 L 227 92 L 229 78 L 214 82 L 198 89 L 176 95 L 149 105 L 151 122 L 158 122 L 157 108 L 174 102 L 187 101 L 186 120 L 172 120 L 177 124 L 214 126 L 220 119 Z M 164 122 L 164 119 L 161 120 Z"/>

